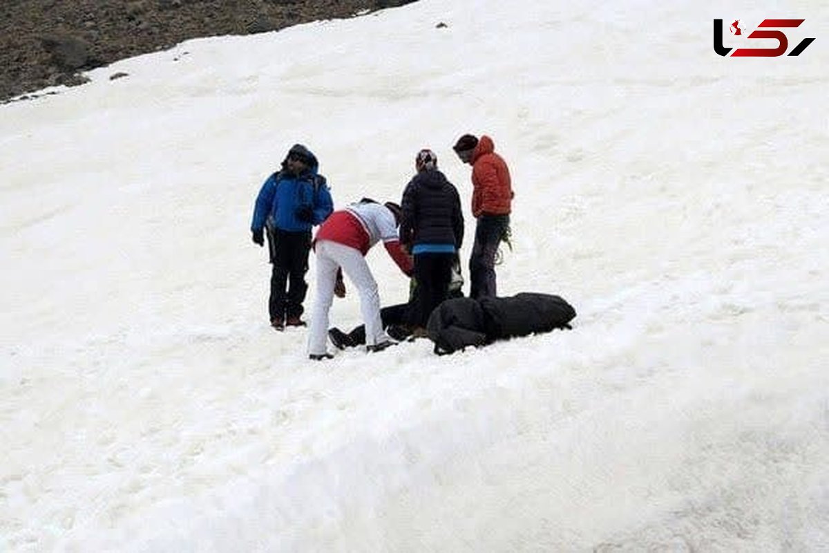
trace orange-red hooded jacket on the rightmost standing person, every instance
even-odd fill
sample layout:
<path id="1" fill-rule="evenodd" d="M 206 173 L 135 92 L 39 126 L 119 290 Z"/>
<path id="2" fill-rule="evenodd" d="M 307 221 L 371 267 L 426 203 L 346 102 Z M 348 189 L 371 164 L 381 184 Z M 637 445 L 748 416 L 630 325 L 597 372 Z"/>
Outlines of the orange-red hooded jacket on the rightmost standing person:
<path id="1" fill-rule="evenodd" d="M 512 203 L 510 170 L 495 153 L 495 144 L 486 134 L 478 140 L 472 153 L 472 214 L 508 215 Z"/>

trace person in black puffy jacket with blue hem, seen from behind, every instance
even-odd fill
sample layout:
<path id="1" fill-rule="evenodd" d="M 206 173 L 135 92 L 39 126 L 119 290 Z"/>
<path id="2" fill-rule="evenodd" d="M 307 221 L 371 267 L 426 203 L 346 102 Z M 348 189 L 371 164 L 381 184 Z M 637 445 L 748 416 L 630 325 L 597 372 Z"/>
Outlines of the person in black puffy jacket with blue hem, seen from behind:
<path id="1" fill-rule="evenodd" d="M 425 335 L 429 314 L 446 299 L 452 264 L 463 245 L 463 212 L 458 189 L 438 170 L 438 157 L 422 149 L 414 158 L 414 175 L 403 192 L 400 242 L 414 256 L 418 293 L 407 322 Z"/>

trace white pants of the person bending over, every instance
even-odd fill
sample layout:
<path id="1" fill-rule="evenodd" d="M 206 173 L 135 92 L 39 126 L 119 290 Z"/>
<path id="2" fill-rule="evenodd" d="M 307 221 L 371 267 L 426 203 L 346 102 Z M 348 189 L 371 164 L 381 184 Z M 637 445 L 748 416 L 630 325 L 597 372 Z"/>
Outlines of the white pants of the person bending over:
<path id="1" fill-rule="evenodd" d="M 317 298 L 311 309 L 308 353 L 320 355 L 327 350 L 328 310 L 331 309 L 334 284 L 337 283 L 337 269 L 340 267 L 360 294 L 360 310 L 363 323 L 366 325 L 366 345 L 373 346 L 388 340 L 380 319 L 380 293 L 377 291 L 377 283 L 360 250 L 331 240 L 318 240 L 315 252 Z"/>

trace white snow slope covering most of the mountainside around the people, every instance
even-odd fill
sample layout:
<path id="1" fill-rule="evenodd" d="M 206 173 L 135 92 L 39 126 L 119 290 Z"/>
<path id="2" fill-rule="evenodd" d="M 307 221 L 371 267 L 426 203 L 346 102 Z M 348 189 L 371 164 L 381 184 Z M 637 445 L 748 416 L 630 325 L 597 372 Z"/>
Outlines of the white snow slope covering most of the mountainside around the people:
<path id="1" fill-rule="evenodd" d="M 715 54 L 764 17 L 817 40 Z M 421 0 L 0 106 L 0 551 L 829 551 L 827 18 Z M 395 200 L 432 148 L 466 259 L 467 132 L 516 189 L 499 293 L 574 330 L 308 361 L 268 326 L 264 178 L 301 142 L 335 206 Z"/>

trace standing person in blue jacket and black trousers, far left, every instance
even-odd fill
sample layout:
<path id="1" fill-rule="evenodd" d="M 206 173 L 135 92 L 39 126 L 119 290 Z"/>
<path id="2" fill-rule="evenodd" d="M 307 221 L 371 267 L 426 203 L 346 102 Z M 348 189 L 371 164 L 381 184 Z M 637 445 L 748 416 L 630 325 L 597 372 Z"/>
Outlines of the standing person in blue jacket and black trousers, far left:
<path id="1" fill-rule="evenodd" d="M 250 230 L 253 241 L 264 246 L 268 236 L 270 263 L 271 326 L 302 327 L 303 301 L 308 291 L 308 253 L 311 228 L 325 221 L 333 201 L 325 177 L 318 174 L 317 157 L 302 144 L 294 144 L 282 168 L 262 185 L 256 196 Z"/>

